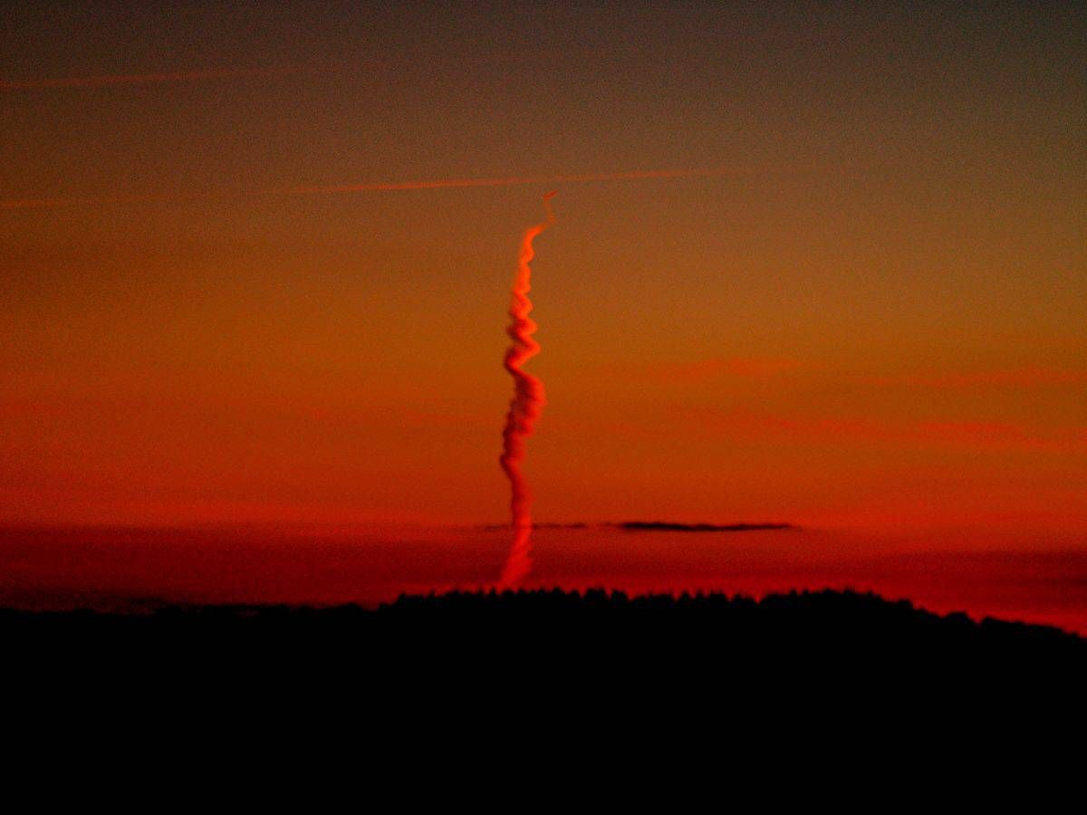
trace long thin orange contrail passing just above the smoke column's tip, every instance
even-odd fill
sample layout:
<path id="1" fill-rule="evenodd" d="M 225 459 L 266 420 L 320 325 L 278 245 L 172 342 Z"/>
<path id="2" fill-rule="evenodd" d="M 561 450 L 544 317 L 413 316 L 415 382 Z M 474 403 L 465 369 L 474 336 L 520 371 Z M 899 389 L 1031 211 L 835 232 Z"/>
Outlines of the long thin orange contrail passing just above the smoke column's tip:
<path id="1" fill-rule="evenodd" d="M 589 181 L 633 181 L 670 178 L 712 178 L 726 175 L 752 175 L 771 172 L 758 168 L 721 167 L 711 170 L 638 170 L 626 173 L 585 173 L 580 175 L 507 176 L 503 178 L 430 178 L 412 181 L 372 181 L 364 184 L 309 185 L 255 190 L 207 190 L 163 195 L 76 196 L 51 198 L 0 199 L 0 209 L 43 209 L 75 204 L 153 203 L 171 201 L 252 198 L 264 196 L 316 196 L 338 192 L 397 192 L 422 189 L 470 189 L 474 187 L 515 187 L 530 184 L 586 184 Z"/>

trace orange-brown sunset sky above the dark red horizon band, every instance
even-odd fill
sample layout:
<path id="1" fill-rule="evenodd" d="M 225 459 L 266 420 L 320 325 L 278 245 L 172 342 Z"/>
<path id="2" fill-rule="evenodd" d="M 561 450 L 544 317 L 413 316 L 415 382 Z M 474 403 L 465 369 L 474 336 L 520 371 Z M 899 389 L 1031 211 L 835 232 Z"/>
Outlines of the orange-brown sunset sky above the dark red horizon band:
<path id="1" fill-rule="evenodd" d="M 537 519 L 1087 551 L 1085 100 L 1082 3 L 5 2 L 0 524 L 502 523 L 555 189 Z"/>

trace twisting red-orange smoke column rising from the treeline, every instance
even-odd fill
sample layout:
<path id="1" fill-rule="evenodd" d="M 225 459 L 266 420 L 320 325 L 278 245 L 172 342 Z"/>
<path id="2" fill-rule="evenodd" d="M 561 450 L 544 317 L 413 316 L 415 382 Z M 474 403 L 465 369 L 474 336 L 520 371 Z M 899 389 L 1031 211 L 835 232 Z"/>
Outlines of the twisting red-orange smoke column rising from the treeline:
<path id="1" fill-rule="evenodd" d="M 525 373 L 523 365 L 539 353 L 540 346 L 533 339 L 536 323 L 529 317 L 533 310 L 528 292 L 532 289 L 533 239 L 554 223 L 551 212 L 551 199 L 554 192 L 544 196 L 544 209 L 547 218 L 525 230 L 521 239 L 521 252 L 517 256 L 517 273 L 513 278 L 513 289 L 510 292 L 510 347 L 505 351 L 503 365 L 513 377 L 513 399 L 505 414 L 505 428 L 502 430 L 502 455 L 499 462 L 510 479 L 513 496 L 510 500 L 510 512 L 513 517 L 513 548 L 498 578 L 498 588 L 515 588 L 528 576 L 533 562 L 532 552 L 532 492 L 521 464 L 525 460 L 525 440 L 533 435 L 536 419 L 544 410 L 544 383 L 532 374 Z"/>

